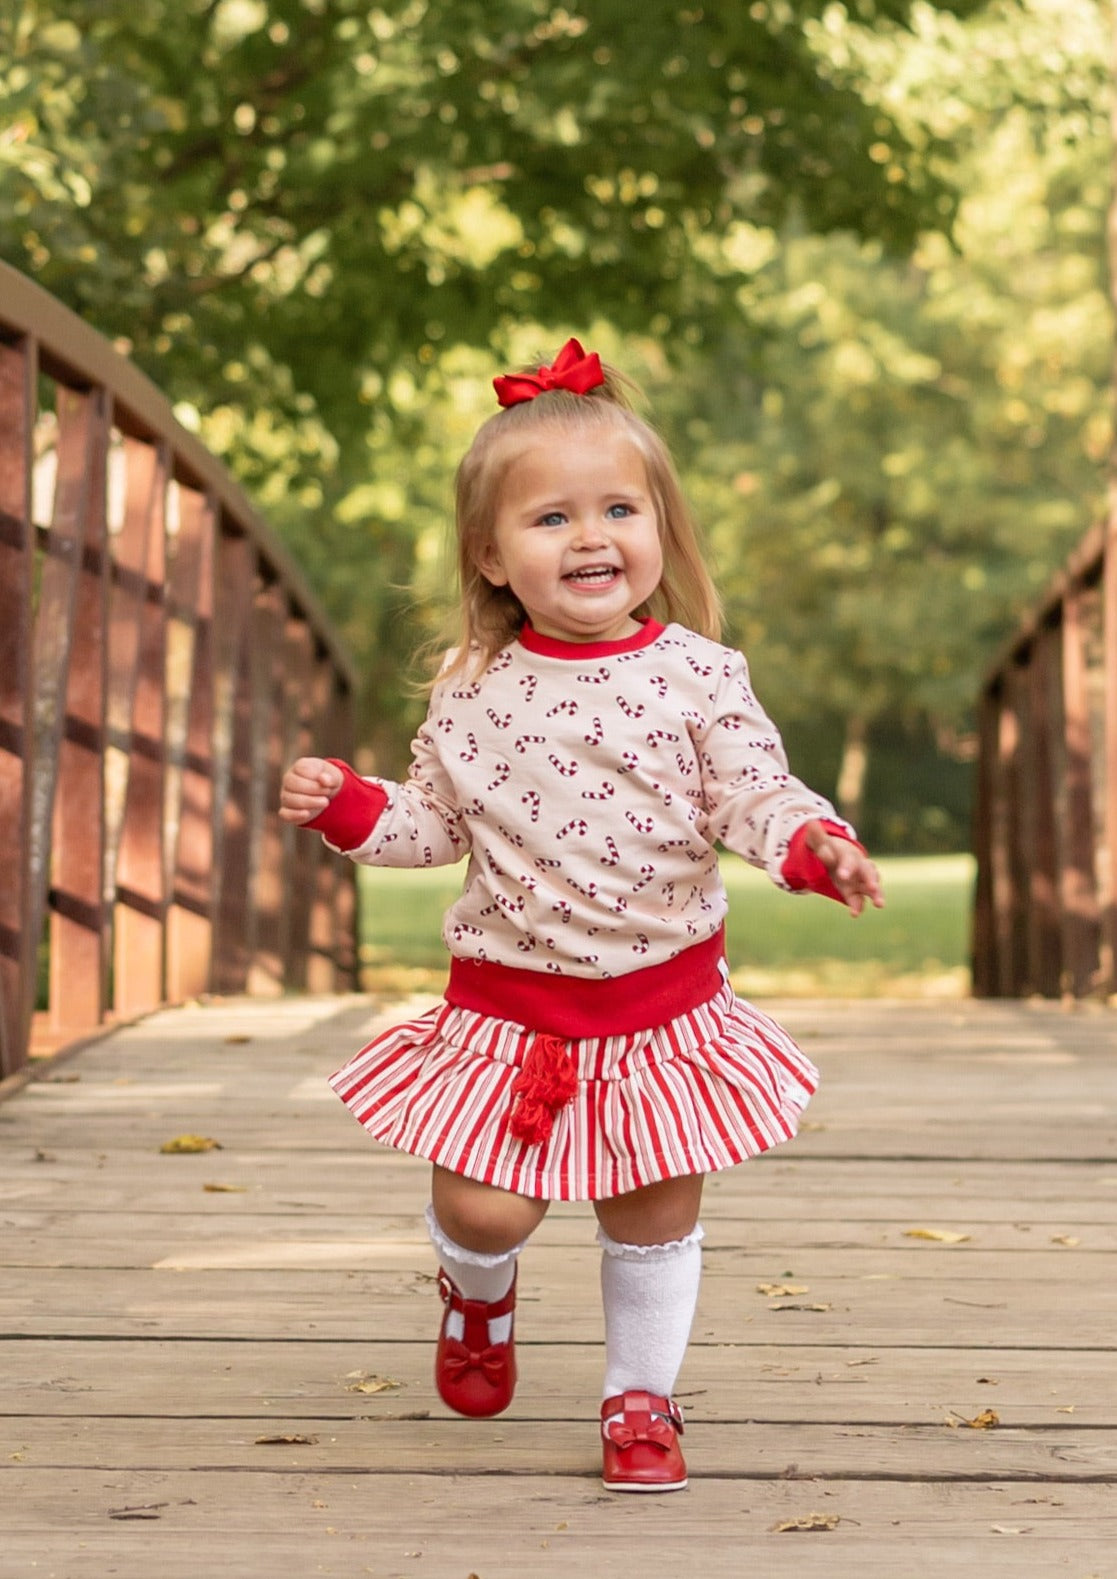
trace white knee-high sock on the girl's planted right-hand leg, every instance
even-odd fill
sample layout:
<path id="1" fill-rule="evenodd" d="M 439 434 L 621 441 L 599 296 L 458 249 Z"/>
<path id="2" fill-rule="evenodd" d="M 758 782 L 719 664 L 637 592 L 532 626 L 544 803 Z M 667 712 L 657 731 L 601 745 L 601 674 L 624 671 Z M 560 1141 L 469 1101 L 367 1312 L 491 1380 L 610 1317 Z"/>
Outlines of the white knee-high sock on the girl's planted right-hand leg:
<path id="1" fill-rule="evenodd" d="M 605 1306 L 602 1397 L 632 1390 L 671 1396 L 698 1303 L 701 1238 L 697 1227 L 668 1244 L 618 1244 L 597 1230 Z"/>

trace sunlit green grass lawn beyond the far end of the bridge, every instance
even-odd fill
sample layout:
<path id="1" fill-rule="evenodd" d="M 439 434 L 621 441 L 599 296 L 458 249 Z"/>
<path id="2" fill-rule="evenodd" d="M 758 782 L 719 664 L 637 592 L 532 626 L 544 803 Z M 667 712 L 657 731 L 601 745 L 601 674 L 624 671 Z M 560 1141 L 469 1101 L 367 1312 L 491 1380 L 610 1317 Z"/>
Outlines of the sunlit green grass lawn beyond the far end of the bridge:
<path id="1" fill-rule="evenodd" d="M 886 908 L 859 921 L 831 900 L 793 897 L 736 856 L 722 857 L 733 985 L 746 996 L 964 996 L 970 985 L 970 856 L 878 862 Z M 359 868 L 362 981 L 376 992 L 438 992 L 442 911 L 464 867 Z"/>

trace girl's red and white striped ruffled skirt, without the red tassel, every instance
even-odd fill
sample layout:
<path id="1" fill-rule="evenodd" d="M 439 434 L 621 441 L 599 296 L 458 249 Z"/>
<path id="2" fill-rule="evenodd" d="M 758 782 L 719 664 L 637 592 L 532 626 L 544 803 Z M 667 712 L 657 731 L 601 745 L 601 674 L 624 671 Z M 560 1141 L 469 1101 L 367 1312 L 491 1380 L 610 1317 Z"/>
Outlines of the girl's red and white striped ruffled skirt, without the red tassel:
<path id="1" fill-rule="evenodd" d="M 442 1004 L 378 1036 L 330 1085 L 385 1146 L 536 1200 L 605 1200 L 790 1140 L 818 1083 L 787 1031 L 727 985 L 653 1031 L 567 1042 L 577 1094 L 528 1145 L 509 1113 L 534 1041 Z"/>

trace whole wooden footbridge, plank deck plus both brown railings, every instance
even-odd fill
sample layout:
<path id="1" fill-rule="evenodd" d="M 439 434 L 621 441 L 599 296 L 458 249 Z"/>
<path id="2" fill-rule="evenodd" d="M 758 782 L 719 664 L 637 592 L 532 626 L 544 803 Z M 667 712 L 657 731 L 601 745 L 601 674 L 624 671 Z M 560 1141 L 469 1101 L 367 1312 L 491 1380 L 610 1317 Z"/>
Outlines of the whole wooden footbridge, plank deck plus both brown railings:
<path id="1" fill-rule="evenodd" d="M 776 1006 L 825 1086 L 709 1183 L 681 1497 L 600 1489 L 581 1208 L 512 1410 L 433 1393 L 425 1168 L 324 1083 L 400 1009 L 275 815 L 351 695 L 232 480 L 0 265 L 0 1570 L 1112 1579 L 1112 527 L 984 687 L 978 1001 Z"/>

